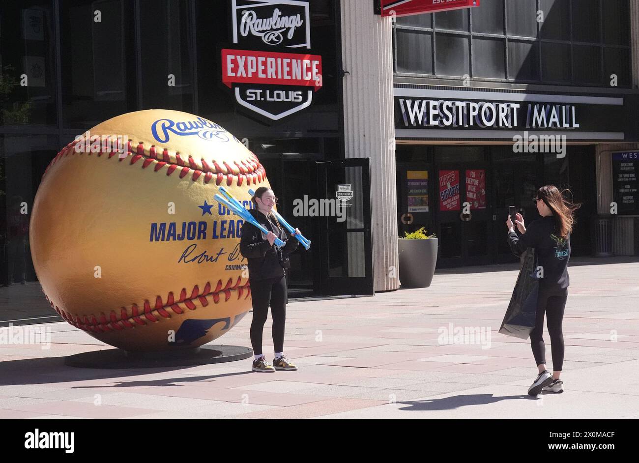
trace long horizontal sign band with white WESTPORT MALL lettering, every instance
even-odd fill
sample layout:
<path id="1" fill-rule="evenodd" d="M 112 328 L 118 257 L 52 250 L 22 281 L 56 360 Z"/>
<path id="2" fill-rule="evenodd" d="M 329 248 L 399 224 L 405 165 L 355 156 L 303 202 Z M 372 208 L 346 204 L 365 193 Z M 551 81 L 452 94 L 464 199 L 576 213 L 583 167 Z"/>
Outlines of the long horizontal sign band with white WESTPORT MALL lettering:
<path id="1" fill-rule="evenodd" d="M 637 95 L 541 95 L 395 87 L 395 135 L 414 139 L 510 139 L 528 132 L 571 140 L 634 141 Z"/>

